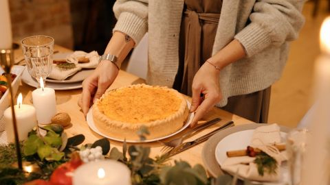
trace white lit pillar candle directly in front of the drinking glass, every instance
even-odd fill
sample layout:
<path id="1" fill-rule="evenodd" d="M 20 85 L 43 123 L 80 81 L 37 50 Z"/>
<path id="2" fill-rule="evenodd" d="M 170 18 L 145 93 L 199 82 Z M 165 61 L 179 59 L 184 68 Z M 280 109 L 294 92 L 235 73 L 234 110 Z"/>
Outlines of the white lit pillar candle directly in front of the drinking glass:
<path id="1" fill-rule="evenodd" d="M 40 124 L 52 123 L 52 117 L 56 114 L 55 90 L 45 88 L 43 78 L 40 78 L 40 88 L 32 92 L 33 106 L 36 108 L 36 119 Z"/>

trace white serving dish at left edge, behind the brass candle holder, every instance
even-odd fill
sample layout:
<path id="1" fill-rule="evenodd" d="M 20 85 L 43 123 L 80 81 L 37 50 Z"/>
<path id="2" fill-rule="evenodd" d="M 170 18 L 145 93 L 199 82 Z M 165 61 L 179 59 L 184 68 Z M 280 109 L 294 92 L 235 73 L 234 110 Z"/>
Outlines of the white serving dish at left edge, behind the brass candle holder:
<path id="1" fill-rule="evenodd" d="M 13 73 L 17 75 L 15 77 L 14 81 L 12 82 L 12 93 L 14 93 L 13 97 L 16 96 L 17 90 L 19 89 L 19 84 L 21 84 L 21 77 L 24 71 L 24 66 L 12 66 L 12 71 L 10 73 Z M 3 69 L 0 68 L 0 75 L 4 73 Z M 10 106 L 10 100 L 9 97 L 9 90 L 5 91 L 5 94 L 0 99 L 0 117 L 3 116 L 3 112 L 5 112 L 5 109 Z M 16 100 L 14 100 L 16 102 Z"/>

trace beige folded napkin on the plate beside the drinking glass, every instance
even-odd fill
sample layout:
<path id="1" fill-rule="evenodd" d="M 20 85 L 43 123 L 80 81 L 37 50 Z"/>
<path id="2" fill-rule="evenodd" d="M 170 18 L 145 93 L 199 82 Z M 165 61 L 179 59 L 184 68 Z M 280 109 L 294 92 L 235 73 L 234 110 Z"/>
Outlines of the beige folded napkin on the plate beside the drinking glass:
<path id="1" fill-rule="evenodd" d="M 81 60 L 82 58 L 83 60 Z M 49 77 L 57 80 L 64 80 L 82 69 L 94 69 L 98 66 L 99 58 L 100 56 L 98 56 L 97 51 L 91 51 L 90 53 L 86 53 L 85 51 L 74 51 L 74 53 L 67 56 L 65 60 L 63 59 L 64 62 L 69 64 L 53 64 L 52 72 Z M 80 60 L 83 62 L 80 62 Z"/>

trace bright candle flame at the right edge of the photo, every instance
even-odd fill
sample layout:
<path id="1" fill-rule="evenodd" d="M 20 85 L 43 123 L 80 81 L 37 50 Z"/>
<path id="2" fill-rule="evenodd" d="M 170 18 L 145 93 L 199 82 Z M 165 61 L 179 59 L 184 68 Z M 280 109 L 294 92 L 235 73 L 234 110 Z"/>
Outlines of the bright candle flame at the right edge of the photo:
<path id="1" fill-rule="evenodd" d="M 320 31 L 321 50 L 330 55 L 330 16 L 325 18 Z"/>

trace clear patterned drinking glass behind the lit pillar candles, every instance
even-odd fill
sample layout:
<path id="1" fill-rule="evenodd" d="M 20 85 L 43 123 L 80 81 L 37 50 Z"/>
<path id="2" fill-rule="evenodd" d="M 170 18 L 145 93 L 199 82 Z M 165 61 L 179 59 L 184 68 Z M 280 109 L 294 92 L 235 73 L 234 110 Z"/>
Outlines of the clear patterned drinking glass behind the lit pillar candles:
<path id="1" fill-rule="evenodd" d="M 28 72 L 40 86 L 40 77 L 45 79 L 52 71 L 54 38 L 50 36 L 30 36 L 21 41 L 23 56 Z"/>

